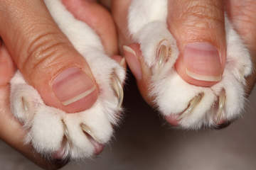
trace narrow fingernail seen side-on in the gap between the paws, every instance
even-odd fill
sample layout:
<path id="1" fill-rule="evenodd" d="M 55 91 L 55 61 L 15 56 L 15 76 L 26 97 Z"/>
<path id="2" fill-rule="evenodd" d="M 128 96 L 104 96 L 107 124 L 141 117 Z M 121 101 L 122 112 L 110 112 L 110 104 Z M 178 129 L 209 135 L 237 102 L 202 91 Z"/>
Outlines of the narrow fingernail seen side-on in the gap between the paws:
<path id="1" fill-rule="evenodd" d="M 136 79 L 142 79 L 142 68 L 140 66 L 137 54 L 131 47 L 124 45 L 123 46 L 124 55 L 131 69 L 132 73 L 136 77 Z"/>

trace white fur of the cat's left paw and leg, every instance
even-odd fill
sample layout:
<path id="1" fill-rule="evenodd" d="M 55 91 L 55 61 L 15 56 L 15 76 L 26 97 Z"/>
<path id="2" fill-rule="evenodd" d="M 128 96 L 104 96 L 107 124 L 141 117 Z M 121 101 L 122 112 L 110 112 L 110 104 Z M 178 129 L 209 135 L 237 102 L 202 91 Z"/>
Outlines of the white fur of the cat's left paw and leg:
<path id="1" fill-rule="evenodd" d="M 31 143 L 37 152 L 52 154 L 63 145 L 64 126 L 70 136 L 66 144 L 65 156 L 71 159 L 91 157 L 95 148 L 82 132 L 80 124 L 90 128 L 100 143 L 107 143 L 112 137 L 112 124 L 116 125 L 119 118 L 117 97 L 111 86 L 112 72 L 124 81 L 124 69 L 105 54 L 99 36 L 78 21 L 68 12 L 61 0 L 45 0 L 46 6 L 60 29 L 89 64 L 92 74 L 100 87 L 100 96 L 87 111 L 66 114 L 56 108 L 46 106 L 36 89 L 26 84 L 20 72 L 11 80 L 11 111 L 28 130 L 25 142 Z M 22 99 L 23 98 L 23 99 Z M 23 103 L 27 109 L 24 109 Z M 27 110 L 27 111 L 26 111 Z"/>

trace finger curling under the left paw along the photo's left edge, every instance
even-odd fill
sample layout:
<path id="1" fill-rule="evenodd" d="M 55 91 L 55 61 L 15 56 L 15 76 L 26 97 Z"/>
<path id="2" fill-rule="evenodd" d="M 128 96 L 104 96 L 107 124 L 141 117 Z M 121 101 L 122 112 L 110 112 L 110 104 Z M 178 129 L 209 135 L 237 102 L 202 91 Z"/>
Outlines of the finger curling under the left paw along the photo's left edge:
<path id="1" fill-rule="evenodd" d="M 13 117 L 9 106 L 9 81 L 15 72 L 14 63 L 4 45 L 0 45 L 0 139 L 44 169 L 58 169 L 65 162 L 50 162 L 36 154 L 30 145 L 23 145 L 26 132 Z"/>

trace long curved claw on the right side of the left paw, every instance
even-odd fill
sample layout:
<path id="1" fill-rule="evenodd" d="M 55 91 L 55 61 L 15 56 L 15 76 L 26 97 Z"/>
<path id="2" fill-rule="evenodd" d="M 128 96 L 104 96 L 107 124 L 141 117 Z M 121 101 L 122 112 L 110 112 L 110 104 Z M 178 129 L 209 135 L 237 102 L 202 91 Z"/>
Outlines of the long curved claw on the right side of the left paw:
<path id="1" fill-rule="evenodd" d="M 112 74 L 112 88 L 114 90 L 115 95 L 118 98 L 117 107 L 121 108 L 122 102 L 124 100 L 124 91 L 122 89 L 122 81 L 115 73 Z"/>

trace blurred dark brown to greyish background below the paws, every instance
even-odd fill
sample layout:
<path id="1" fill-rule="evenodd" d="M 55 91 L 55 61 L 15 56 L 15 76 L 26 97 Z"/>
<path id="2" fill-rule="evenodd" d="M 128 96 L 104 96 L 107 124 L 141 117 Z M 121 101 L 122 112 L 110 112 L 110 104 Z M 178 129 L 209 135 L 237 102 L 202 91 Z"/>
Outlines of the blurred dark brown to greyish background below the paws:
<path id="1" fill-rule="evenodd" d="M 127 84 L 126 116 L 111 144 L 100 157 L 69 164 L 65 170 L 256 169 L 256 90 L 243 118 L 224 130 L 195 132 L 171 129 L 142 101 L 134 81 Z M 39 168 L 0 142 L 0 169 Z"/>

